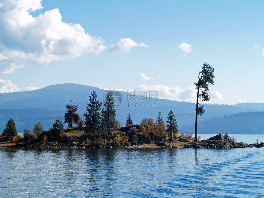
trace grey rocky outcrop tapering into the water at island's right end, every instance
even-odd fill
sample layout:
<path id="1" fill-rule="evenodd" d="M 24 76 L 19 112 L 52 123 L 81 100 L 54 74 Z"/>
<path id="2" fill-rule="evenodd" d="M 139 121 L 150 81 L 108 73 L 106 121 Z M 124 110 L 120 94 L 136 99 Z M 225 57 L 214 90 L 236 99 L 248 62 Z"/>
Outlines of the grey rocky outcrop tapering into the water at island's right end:
<path id="1" fill-rule="evenodd" d="M 263 147 L 264 143 L 246 144 L 243 142 L 234 142 L 227 134 L 218 134 L 208 140 L 201 140 L 198 143 L 189 143 L 184 145 L 184 148 L 246 148 L 246 147 Z"/>

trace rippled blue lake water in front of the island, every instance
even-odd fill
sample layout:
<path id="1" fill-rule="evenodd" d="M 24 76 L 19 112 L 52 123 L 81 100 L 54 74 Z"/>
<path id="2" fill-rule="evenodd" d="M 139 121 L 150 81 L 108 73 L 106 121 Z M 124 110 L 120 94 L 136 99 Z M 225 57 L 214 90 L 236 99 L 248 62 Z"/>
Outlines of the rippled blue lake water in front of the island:
<path id="1" fill-rule="evenodd" d="M 264 148 L 0 149 L 0 197 L 263 197 Z"/>

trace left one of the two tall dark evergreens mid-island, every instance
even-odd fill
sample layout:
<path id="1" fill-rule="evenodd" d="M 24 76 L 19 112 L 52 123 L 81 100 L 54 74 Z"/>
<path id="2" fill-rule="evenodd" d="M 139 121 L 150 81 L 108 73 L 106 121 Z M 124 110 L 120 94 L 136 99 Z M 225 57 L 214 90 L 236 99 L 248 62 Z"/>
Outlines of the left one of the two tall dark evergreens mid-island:
<path id="1" fill-rule="evenodd" d="M 85 133 L 96 133 L 100 129 L 100 110 L 102 103 L 97 100 L 97 95 L 95 91 L 91 93 L 89 97 L 90 103 L 87 104 L 86 110 L 87 113 L 84 114 L 85 116 Z"/>

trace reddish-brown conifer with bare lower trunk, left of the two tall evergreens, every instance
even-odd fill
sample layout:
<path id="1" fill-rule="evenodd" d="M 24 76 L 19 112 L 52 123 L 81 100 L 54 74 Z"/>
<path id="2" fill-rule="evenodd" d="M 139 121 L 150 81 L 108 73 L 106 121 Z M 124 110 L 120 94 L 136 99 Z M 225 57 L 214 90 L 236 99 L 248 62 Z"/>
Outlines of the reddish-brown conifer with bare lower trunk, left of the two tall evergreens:
<path id="1" fill-rule="evenodd" d="M 77 124 L 80 120 L 80 115 L 77 113 L 78 105 L 72 103 L 72 99 L 69 104 L 66 105 L 67 112 L 64 114 L 64 123 L 68 123 L 68 128 L 72 128 L 72 122 Z"/>

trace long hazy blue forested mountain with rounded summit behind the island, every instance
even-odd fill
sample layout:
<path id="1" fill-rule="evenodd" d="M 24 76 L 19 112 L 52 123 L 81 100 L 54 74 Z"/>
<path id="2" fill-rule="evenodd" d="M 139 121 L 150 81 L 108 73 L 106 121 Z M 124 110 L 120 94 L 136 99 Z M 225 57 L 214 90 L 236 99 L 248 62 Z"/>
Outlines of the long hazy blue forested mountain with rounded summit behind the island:
<path id="1" fill-rule="evenodd" d="M 18 132 L 25 128 L 32 129 L 34 123 L 40 121 L 44 130 L 48 130 L 55 119 L 63 120 L 66 112 L 66 104 L 72 99 L 79 106 L 78 113 L 82 116 L 86 113 L 87 103 L 91 92 L 95 90 L 97 99 L 103 102 L 106 90 L 79 84 L 58 84 L 44 87 L 34 91 L 1 93 L 0 94 L 0 131 L 7 121 L 13 118 Z M 166 120 L 172 109 L 179 127 L 190 125 L 195 119 L 195 104 L 177 102 L 166 99 L 140 100 L 135 96 L 131 100 L 126 92 L 120 91 L 122 103 L 116 107 L 117 119 L 121 125 L 125 125 L 130 105 L 130 116 L 135 124 L 139 124 L 142 118 L 153 118 L 156 120 L 158 112 L 161 111 L 163 120 Z M 148 95 L 149 96 L 149 95 Z M 119 96 L 120 99 L 120 96 Z M 264 111 L 264 103 L 241 103 L 237 105 L 205 104 L 205 113 L 199 117 L 199 122 L 206 118 L 223 117 L 238 112 Z M 66 126 L 66 125 L 65 125 Z M 199 130 L 199 128 L 198 128 Z M 189 130 L 188 130 L 189 131 Z"/>

